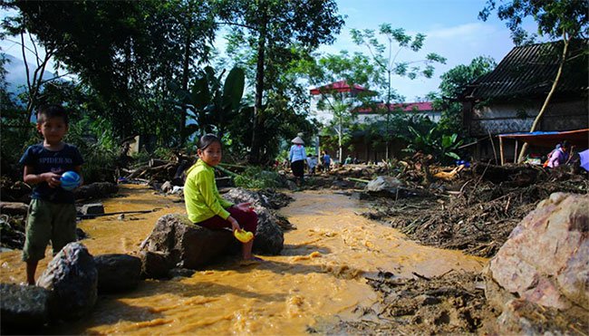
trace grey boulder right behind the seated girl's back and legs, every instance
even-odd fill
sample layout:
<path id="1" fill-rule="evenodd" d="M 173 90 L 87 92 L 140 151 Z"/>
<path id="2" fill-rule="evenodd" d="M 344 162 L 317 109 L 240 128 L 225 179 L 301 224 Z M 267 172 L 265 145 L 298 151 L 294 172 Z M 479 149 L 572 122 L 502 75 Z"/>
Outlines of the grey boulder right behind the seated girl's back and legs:
<path id="1" fill-rule="evenodd" d="M 235 204 L 249 202 L 254 207 L 257 214 L 254 252 L 258 254 L 280 254 L 285 247 L 285 234 L 278 223 L 284 219 L 279 218 L 269 209 L 272 206 L 270 200 L 255 191 L 242 188 L 233 188 L 223 197 Z"/>

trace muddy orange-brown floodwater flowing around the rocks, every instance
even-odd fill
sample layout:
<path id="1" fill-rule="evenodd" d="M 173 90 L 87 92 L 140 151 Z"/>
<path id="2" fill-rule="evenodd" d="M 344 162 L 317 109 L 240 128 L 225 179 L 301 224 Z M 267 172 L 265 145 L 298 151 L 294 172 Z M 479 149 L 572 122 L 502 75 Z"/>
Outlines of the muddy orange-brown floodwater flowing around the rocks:
<path id="1" fill-rule="evenodd" d="M 125 186 L 104 201 L 106 212 L 150 210 L 149 214 L 84 220 L 83 240 L 94 255 L 139 249 L 159 218 L 185 213 L 176 197 Z M 357 306 L 377 300 L 364 276 L 386 270 L 401 277 L 434 276 L 450 270 L 478 272 L 487 259 L 417 245 L 391 227 L 356 215 L 366 205 L 332 191 L 294 193 L 281 209 L 297 229 L 285 233 L 281 255 L 241 266 L 227 260 L 191 277 L 148 280 L 129 293 L 100 296 L 82 321 L 56 325 L 49 333 L 304 334 L 317 323 L 354 321 Z M 20 251 L 0 254 L 4 283 L 21 283 Z M 41 274 L 49 258 L 40 263 Z"/>

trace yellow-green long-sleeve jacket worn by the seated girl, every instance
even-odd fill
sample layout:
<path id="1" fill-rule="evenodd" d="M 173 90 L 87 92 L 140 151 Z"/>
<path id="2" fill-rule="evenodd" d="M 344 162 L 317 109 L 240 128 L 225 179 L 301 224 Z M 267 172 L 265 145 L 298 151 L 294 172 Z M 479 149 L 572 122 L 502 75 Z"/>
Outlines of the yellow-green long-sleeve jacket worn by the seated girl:
<path id="1" fill-rule="evenodd" d="M 230 214 L 226 208 L 233 206 L 233 203 L 219 195 L 215 170 L 201 159 L 188 168 L 184 182 L 184 203 L 188 219 L 192 223 L 199 223 L 216 215 L 227 219 Z"/>

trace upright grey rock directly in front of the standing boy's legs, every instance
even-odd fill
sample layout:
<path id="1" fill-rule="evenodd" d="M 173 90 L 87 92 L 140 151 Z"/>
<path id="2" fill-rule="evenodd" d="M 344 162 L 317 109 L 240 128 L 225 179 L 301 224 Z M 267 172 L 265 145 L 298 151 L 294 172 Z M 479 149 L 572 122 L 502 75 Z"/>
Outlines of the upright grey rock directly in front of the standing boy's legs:
<path id="1" fill-rule="evenodd" d="M 80 243 L 65 245 L 37 280 L 53 293 L 52 315 L 76 319 L 92 311 L 97 298 L 98 271 L 94 258 Z"/>

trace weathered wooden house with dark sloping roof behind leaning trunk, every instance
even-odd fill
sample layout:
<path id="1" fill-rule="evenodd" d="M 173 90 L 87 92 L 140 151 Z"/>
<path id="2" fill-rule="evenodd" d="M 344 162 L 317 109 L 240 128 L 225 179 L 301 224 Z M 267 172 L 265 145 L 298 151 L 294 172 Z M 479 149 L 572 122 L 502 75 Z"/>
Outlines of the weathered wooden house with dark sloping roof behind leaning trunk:
<path id="1" fill-rule="evenodd" d="M 497 135 L 529 132 L 555 82 L 563 45 L 560 41 L 515 47 L 493 72 L 479 77 L 462 92 L 460 101 L 464 126 L 469 136 L 479 139 L 472 150 L 474 158 L 495 157 L 498 161 Z M 588 128 L 587 40 L 571 43 L 566 60 L 555 93 L 536 130 Z M 504 145 L 506 159 L 513 160 L 517 138 L 504 139 L 512 139 Z M 555 139 L 554 142 L 559 140 L 563 139 Z M 555 143 L 530 150 L 544 153 Z M 496 149 L 493 150 L 492 146 Z"/>

